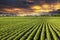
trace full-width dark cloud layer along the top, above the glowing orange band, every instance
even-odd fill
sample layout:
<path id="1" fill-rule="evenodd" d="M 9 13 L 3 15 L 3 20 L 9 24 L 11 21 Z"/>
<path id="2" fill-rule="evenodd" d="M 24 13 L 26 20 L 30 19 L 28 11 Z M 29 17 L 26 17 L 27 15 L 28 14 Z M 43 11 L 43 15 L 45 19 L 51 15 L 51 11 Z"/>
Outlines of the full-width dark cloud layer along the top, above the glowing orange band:
<path id="1" fill-rule="evenodd" d="M 32 5 L 40 5 L 43 3 L 55 3 L 60 2 L 60 0 L 31 0 L 33 2 L 29 2 L 29 0 L 0 0 L 0 7 L 20 7 L 20 8 L 29 8 L 29 6 Z M 1 6 L 4 5 L 4 6 Z"/>

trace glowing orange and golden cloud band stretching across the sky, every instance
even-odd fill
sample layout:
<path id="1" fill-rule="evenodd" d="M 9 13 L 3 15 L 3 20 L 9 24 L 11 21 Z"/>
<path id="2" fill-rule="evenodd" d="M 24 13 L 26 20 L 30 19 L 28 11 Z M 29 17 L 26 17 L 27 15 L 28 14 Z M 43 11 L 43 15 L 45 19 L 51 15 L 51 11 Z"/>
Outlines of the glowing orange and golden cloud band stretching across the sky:
<path id="1" fill-rule="evenodd" d="M 0 12 L 6 12 L 6 13 L 18 13 L 18 14 L 29 14 L 29 13 L 40 13 L 40 12 L 49 12 L 53 10 L 60 9 L 60 3 L 56 4 L 42 4 L 42 5 L 33 5 L 30 9 L 24 9 L 24 8 L 3 8 L 4 11 Z"/>

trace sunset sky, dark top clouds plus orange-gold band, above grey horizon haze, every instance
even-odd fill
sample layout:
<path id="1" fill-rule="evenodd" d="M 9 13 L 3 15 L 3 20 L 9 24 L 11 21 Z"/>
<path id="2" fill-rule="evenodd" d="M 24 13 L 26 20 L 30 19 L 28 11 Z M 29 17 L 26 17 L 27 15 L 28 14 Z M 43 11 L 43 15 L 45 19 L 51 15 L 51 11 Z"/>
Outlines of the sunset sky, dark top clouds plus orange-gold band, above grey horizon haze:
<path id="1" fill-rule="evenodd" d="M 0 0 L 2 13 L 39 13 L 60 9 L 60 0 Z"/>

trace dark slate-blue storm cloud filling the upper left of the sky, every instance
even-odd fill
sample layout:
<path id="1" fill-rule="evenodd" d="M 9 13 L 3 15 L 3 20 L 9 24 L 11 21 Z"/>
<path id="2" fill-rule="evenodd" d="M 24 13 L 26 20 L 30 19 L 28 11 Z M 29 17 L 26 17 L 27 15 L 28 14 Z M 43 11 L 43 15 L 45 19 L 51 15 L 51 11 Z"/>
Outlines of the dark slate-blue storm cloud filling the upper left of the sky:
<path id="1" fill-rule="evenodd" d="M 24 0 L 0 0 L 0 6 L 12 6 L 12 7 L 20 7 L 20 8 L 29 8 L 30 2 Z"/>

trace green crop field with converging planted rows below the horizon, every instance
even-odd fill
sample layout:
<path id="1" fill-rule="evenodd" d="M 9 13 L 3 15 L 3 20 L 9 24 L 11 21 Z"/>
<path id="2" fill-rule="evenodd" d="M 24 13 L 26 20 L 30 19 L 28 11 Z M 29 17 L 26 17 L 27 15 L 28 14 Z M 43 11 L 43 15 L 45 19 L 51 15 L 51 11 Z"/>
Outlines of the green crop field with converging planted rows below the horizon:
<path id="1" fill-rule="evenodd" d="M 60 17 L 0 17 L 0 40 L 60 40 Z"/>

